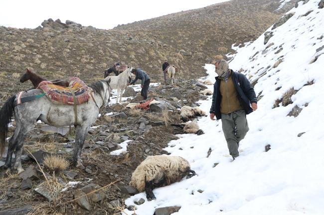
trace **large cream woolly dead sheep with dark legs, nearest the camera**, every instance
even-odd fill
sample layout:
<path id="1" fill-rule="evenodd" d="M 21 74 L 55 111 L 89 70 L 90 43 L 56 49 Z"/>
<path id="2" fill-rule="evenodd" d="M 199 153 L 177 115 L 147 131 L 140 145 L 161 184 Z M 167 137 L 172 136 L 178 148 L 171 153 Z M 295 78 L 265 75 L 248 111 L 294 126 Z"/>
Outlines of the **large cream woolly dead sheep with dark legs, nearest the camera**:
<path id="1" fill-rule="evenodd" d="M 153 189 L 180 181 L 183 177 L 192 177 L 195 171 L 190 169 L 189 162 L 179 156 L 148 156 L 135 169 L 130 185 L 140 192 L 145 190 L 149 201 L 156 199 Z"/>

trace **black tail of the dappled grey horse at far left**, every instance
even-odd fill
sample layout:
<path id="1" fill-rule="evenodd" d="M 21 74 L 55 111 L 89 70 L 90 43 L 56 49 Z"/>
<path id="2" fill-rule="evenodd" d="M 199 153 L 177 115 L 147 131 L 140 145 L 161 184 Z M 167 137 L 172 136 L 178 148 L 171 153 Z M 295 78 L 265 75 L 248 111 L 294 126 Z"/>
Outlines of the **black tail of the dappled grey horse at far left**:
<path id="1" fill-rule="evenodd" d="M 8 133 L 8 125 L 11 122 L 13 116 L 14 99 L 16 95 L 7 99 L 0 110 L 0 155 L 2 156 L 4 151 L 4 143 Z M 1 157 L 0 156 L 0 157 Z"/>

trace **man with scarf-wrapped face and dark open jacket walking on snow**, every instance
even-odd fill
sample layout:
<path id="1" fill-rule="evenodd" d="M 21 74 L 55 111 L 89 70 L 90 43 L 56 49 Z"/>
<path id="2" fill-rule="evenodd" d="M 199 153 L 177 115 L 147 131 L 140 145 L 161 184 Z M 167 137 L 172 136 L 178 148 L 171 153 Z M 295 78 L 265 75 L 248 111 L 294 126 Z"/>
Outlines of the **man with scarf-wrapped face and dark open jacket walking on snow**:
<path id="1" fill-rule="evenodd" d="M 246 115 L 256 111 L 255 91 L 245 75 L 228 68 L 225 60 L 215 64 L 214 94 L 210 108 L 210 119 L 222 120 L 222 129 L 228 150 L 233 159 L 239 156 L 239 142 L 249 131 Z M 251 106 L 250 106 L 251 105 Z"/>

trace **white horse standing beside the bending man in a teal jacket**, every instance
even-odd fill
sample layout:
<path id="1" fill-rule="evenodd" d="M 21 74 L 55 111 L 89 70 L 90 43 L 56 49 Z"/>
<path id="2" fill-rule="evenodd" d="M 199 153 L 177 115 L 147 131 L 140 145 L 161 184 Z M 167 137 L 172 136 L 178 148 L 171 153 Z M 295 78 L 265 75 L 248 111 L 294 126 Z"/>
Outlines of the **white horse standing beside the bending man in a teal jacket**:
<path id="1" fill-rule="evenodd" d="M 135 75 L 131 72 L 133 68 L 128 68 L 124 72 L 120 73 L 117 76 L 107 76 L 105 80 L 110 79 L 110 87 L 112 89 L 117 89 L 117 100 L 116 103 L 122 102 L 123 93 L 127 88 L 127 83 L 130 82 L 130 79 L 135 77 Z"/>

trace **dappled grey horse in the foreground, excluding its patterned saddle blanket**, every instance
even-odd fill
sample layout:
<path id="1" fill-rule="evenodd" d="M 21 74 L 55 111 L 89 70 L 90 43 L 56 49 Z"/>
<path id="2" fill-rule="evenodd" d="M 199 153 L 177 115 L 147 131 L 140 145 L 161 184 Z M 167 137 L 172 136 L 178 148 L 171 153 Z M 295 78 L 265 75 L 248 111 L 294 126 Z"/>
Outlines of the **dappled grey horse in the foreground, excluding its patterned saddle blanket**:
<path id="1" fill-rule="evenodd" d="M 29 131 L 34 128 L 37 120 L 55 126 L 70 126 L 76 128 L 75 148 L 73 161 L 79 168 L 83 167 L 81 160 L 81 150 L 84 140 L 88 134 L 90 125 L 94 123 L 98 117 L 99 109 L 108 106 L 110 91 L 110 80 L 100 80 L 90 86 L 92 89 L 92 99 L 80 105 L 61 105 L 52 103 L 46 96 L 39 97 L 44 94 L 41 89 L 30 89 L 25 91 L 21 98 L 35 98 L 28 102 L 17 105 L 17 95 L 11 96 L 0 110 L 0 149 L 1 155 L 4 151 L 4 143 L 8 132 L 8 124 L 14 115 L 16 129 L 13 136 L 9 140 L 8 151 L 5 159 L 4 167 L 11 166 L 12 152 L 15 150 L 15 162 L 13 169 L 17 169 L 18 173 L 22 172 L 21 153 L 24 139 Z M 39 97 L 36 99 L 36 97 Z M 21 100 L 22 100 L 21 99 Z M 75 109 L 76 108 L 76 112 Z"/>

